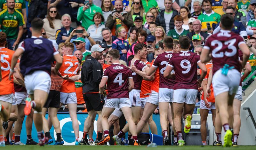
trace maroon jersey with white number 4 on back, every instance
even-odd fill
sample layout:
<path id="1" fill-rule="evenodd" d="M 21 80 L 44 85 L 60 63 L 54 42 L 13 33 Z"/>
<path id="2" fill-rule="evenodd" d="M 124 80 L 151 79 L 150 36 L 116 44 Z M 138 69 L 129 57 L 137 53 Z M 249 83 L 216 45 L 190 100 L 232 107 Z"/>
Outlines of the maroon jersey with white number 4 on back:
<path id="1" fill-rule="evenodd" d="M 102 78 L 108 78 L 108 99 L 129 98 L 128 78 L 130 69 L 122 64 L 112 64 L 103 71 Z"/>

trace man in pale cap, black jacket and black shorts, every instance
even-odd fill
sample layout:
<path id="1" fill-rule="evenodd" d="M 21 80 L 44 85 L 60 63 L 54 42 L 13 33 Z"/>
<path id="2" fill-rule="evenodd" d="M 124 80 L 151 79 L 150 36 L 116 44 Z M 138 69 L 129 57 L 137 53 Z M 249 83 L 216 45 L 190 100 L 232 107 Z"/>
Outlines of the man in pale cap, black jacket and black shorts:
<path id="1" fill-rule="evenodd" d="M 80 145 L 90 145 L 88 143 L 87 135 L 89 129 L 95 119 L 96 113 L 99 115 L 97 121 L 97 139 L 94 141 L 97 143 L 102 138 L 102 127 L 101 127 L 101 110 L 103 102 L 100 98 L 99 84 L 102 78 L 103 70 L 98 59 L 102 58 L 102 51 L 106 49 L 102 48 L 99 44 L 92 46 L 92 54 L 82 66 L 81 81 L 83 85 L 83 97 L 88 111 L 88 117 L 84 122 L 84 134 L 80 141 Z"/>

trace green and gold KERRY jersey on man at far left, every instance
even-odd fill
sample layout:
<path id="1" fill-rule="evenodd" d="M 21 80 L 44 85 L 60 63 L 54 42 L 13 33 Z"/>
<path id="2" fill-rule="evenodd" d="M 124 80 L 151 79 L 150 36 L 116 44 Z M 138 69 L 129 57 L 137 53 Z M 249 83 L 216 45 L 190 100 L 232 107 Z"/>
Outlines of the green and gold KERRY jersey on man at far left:
<path id="1" fill-rule="evenodd" d="M 11 14 L 8 9 L 0 12 L 1 30 L 6 33 L 7 39 L 17 39 L 18 27 L 25 24 L 23 15 L 18 10 L 14 10 Z"/>

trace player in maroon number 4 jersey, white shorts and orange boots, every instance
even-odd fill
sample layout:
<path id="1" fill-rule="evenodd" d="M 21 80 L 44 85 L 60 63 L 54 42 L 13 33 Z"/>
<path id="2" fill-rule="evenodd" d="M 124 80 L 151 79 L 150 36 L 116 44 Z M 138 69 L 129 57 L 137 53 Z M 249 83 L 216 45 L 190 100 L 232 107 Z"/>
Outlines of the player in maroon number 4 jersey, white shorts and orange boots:
<path id="1" fill-rule="evenodd" d="M 101 118 L 104 137 L 100 140 L 98 145 L 103 145 L 110 139 L 108 133 L 108 117 L 115 108 L 119 108 L 124 113 L 124 117 L 129 124 L 129 130 L 134 139 L 134 145 L 138 145 L 136 127 L 132 119 L 132 104 L 129 99 L 129 92 L 132 91 L 134 87 L 132 72 L 128 67 L 125 67 L 119 62 L 120 54 L 118 50 L 113 49 L 109 51 L 109 55 L 113 64 L 103 72 L 102 80 L 99 85 L 100 93 L 102 93 L 108 82 L 108 97 L 102 109 Z"/>

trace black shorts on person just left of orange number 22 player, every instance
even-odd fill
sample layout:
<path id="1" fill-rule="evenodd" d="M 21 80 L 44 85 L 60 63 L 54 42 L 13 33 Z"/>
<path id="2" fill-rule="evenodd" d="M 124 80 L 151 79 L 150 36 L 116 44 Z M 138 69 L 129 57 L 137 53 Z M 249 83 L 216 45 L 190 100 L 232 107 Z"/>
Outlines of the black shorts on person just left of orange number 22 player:
<path id="1" fill-rule="evenodd" d="M 60 108 L 60 91 L 50 90 L 44 108 Z"/>

